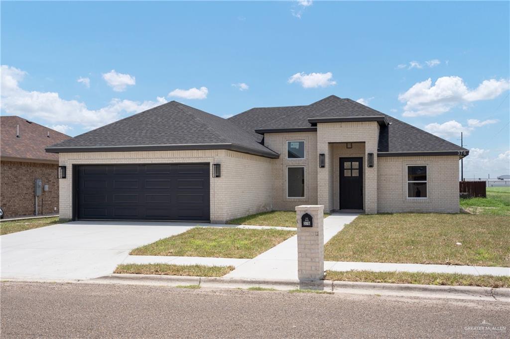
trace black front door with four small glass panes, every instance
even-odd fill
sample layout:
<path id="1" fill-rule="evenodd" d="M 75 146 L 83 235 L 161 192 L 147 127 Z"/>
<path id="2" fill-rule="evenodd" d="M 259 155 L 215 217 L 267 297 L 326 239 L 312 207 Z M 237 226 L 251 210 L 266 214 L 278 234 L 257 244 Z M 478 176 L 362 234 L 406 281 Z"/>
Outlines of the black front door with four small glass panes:
<path id="1" fill-rule="evenodd" d="M 363 158 L 340 158 L 340 209 L 363 209 Z"/>

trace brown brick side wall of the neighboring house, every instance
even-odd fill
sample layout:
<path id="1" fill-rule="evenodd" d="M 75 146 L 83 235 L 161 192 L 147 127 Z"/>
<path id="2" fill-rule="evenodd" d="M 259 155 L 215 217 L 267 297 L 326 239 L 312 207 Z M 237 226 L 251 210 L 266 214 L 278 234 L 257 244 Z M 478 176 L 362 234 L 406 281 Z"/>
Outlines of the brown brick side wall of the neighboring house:
<path id="1" fill-rule="evenodd" d="M 0 206 L 4 217 L 34 215 L 35 179 L 48 185 L 38 198 L 39 214 L 54 214 L 59 211 L 59 182 L 57 164 L 2 161 L 0 162 Z M 57 208 L 55 210 L 55 208 Z"/>

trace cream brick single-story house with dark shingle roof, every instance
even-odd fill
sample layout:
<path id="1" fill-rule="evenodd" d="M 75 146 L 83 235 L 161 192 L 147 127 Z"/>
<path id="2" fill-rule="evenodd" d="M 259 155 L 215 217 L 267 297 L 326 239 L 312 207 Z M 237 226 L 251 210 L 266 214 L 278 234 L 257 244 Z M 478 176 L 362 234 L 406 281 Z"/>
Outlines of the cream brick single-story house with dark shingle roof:
<path id="1" fill-rule="evenodd" d="M 60 215 L 224 222 L 297 205 L 459 211 L 468 150 L 351 99 L 223 119 L 171 101 L 46 148 Z"/>

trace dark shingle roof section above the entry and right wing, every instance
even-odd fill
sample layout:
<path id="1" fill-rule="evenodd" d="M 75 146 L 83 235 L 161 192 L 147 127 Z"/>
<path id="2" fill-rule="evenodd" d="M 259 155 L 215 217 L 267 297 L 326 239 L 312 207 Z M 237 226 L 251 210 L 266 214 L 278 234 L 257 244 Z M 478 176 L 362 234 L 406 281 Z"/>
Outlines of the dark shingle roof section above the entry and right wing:
<path id="1" fill-rule="evenodd" d="M 290 109 L 292 107 L 292 109 Z M 377 121 L 379 156 L 468 154 L 468 150 L 351 99 L 328 96 L 308 106 L 252 108 L 229 120 L 264 134 L 316 130 L 317 122 Z M 241 117 L 239 117 L 241 116 Z M 273 120 L 270 118 L 274 117 Z M 258 138 L 261 139 L 261 138 Z M 464 153 L 465 152 L 465 153 Z M 423 154 L 422 154 L 423 155 Z"/>

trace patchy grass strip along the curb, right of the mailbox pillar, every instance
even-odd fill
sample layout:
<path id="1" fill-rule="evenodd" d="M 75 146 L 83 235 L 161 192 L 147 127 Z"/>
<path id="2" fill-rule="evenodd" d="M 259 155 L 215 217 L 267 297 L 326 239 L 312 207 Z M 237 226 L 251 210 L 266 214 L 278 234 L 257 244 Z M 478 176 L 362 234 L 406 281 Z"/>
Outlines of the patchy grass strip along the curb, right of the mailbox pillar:
<path id="1" fill-rule="evenodd" d="M 456 273 L 326 271 L 326 279 L 363 283 L 510 287 L 510 277 Z"/>

